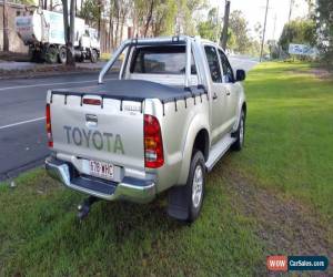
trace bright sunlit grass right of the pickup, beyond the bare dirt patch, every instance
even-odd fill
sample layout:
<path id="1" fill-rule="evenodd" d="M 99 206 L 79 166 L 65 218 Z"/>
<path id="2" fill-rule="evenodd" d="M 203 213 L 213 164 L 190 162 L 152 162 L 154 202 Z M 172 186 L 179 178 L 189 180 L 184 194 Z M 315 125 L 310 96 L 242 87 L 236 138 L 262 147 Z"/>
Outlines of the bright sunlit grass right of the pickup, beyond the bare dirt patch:
<path id="1" fill-rule="evenodd" d="M 264 63 L 250 72 L 246 151 L 234 165 L 269 188 L 333 219 L 333 81 L 310 64 Z"/>

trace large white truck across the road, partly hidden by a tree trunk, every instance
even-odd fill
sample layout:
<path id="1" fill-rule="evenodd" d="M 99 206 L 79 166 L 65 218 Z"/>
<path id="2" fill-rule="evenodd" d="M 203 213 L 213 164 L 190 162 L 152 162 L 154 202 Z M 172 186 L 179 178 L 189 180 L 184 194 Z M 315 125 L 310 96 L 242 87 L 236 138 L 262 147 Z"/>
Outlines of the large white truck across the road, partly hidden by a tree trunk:
<path id="1" fill-rule="evenodd" d="M 62 13 L 41 9 L 26 11 L 16 18 L 16 30 L 29 47 L 31 61 L 67 62 Z M 74 50 L 78 61 L 97 62 L 100 57 L 98 31 L 80 18 L 74 22 Z"/>

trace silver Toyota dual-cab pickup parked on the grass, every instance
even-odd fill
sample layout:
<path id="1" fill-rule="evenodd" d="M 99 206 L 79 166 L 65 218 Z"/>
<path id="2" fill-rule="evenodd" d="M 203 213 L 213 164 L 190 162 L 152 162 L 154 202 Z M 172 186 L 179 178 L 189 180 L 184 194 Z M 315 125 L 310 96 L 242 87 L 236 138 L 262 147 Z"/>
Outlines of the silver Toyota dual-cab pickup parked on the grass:
<path id="1" fill-rule="evenodd" d="M 104 80 L 123 58 L 118 80 Z M 205 174 L 244 143 L 243 70 L 213 42 L 191 37 L 124 41 L 99 83 L 51 90 L 47 132 L 51 176 L 97 199 L 151 202 L 169 191 L 170 216 L 200 214 Z"/>

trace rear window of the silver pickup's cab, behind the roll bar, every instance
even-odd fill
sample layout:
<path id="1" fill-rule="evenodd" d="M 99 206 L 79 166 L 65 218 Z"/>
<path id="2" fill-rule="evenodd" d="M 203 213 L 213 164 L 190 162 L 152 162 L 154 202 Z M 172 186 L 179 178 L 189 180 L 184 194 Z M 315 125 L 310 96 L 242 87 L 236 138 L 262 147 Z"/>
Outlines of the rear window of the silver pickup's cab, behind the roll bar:
<path id="1" fill-rule="evenodd" d="M 185 45 L 141 47 L 133 52 L 131 73 L 184 74 L 186 65 Z M 193 55 L 191 74 L 196 74 Z"/>

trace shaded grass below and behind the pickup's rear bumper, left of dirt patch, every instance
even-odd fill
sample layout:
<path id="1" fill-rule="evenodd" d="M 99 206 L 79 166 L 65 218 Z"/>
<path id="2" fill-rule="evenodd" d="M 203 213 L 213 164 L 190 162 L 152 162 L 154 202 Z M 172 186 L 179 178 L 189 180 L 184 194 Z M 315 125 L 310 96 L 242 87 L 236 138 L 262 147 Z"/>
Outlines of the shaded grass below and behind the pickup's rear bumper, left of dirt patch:
<path id="1" fill-rule="evenodd" d="M 78 222 L 82 196 L 39 170 L 0 187 L 0 276 L 249 276 L 263 263 L 254 222 L 233 211 L 218 174 L 193 226 L 150 205 L 98 203 Z M 6 227 L 4 227 L 6 226 Z"/>

